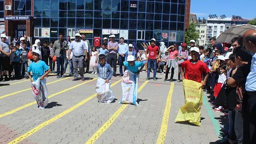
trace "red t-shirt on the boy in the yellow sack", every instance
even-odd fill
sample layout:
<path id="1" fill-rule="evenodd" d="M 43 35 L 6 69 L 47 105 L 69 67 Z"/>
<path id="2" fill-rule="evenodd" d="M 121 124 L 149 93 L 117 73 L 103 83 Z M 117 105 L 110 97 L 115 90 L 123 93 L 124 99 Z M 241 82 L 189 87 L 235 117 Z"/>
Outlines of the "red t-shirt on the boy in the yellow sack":
<path id="1" fill-rule="evenodd" d="M 190 60 L 184 61 L 180 64 L 182 68 L 185 68 L 185 79 L 194 80 L 201 83 L 202 72 L 209 73 L 209 68 L 202 61 L 197 61 L 196 64 L 192 64 Z"/>

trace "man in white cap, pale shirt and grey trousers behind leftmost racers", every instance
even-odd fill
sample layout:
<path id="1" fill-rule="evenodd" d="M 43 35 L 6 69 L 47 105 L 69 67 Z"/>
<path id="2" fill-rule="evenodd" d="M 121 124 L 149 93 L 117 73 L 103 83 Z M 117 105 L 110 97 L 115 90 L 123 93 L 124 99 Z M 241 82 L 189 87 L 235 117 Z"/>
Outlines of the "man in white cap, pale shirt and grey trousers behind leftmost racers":
<path id="1" fill-rule="evenodd" d="M 87 60 L 87 49 L 85 47 L 85 43 L 80 39 L 80 34 L 76 33 L 76 40 L 74 40 L 69 47 L 68 50 L 68 60 L 71 57 L 71 51 L 73 52 L 72 62 L 74 69 L 74 80 L 78 80 L 78 68 L 80 71 L 81 80 L 85 80 L 84 78 L 84 60 Z M 85 58 L 83 57 L 85 53 Z"/>

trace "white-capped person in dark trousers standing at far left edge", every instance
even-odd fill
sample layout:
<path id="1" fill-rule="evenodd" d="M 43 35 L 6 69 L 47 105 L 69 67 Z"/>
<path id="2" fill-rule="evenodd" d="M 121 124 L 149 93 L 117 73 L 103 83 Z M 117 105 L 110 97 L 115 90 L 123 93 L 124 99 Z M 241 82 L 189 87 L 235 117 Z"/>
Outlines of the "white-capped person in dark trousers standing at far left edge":
<path id="1" fill-rule="evenodd" d="M 10 64 L 10 46 L 9 43 L 6 42 L 7 38 L 5 34 L 1 34 L 1 42 L 0 42 L 0 61 L 1 61 L 1 79 L 0 81 L 8 81 L 9 78 L 7 77 L 9 64 Z M 5 78 L 3 76 L 5 74 Z"/>

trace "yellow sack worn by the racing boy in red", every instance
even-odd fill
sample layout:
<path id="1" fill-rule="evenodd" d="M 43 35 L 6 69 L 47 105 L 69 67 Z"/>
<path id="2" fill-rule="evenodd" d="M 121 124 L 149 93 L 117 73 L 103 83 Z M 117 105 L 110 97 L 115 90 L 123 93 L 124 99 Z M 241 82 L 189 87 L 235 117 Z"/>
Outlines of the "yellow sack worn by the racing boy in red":
<path id="1" fill-rule="evenodd" d="M 175 122 L 188 121 L 201 126 L 202 84 L 193 80 L 183 80 L 185 104 L 180 107 Z"/>

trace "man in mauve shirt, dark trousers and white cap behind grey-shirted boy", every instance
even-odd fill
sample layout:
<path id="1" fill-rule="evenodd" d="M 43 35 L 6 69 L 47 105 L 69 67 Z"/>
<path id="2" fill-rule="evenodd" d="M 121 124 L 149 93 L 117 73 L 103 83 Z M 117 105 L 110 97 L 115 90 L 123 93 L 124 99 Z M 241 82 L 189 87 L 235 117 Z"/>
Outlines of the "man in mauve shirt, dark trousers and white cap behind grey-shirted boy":
<path id="1" fill-rule="evenodd" d="M 115 41 L 115 35 L 111 35 L 111 41 L 107 43 L 107 49 L 109 51 L 107 59 L 108 64 L 113 62 L 113 76 L 116 77 L 116 61 L 118 53 L 118 42 Z"/>

